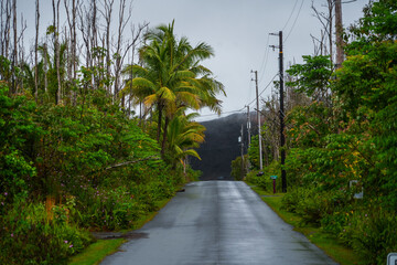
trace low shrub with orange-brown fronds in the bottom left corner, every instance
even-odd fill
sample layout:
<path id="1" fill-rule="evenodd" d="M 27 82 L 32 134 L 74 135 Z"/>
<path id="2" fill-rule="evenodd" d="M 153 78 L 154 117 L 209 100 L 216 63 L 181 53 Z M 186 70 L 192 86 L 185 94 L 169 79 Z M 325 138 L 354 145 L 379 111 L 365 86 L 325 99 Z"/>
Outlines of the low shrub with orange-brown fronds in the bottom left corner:
<path id="1" fill-rule="evenodd" d="M 92 237 L 68 221 L 69 211 L 58 205 L 47 213 L 43 203 L 17 201 L 0 218 L 0 263 L 65 264 L 82 252 Z"/>

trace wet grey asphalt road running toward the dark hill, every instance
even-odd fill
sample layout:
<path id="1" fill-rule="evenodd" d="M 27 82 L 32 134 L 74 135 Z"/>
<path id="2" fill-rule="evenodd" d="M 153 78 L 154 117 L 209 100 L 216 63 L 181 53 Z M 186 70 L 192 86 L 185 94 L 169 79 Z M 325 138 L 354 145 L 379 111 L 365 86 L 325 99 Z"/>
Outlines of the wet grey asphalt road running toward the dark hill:
<path id="1" fill-rule="evenodd" d="M 336 264 L 237 181 L 187 184 L 136 235 L 101 264 Z"/>

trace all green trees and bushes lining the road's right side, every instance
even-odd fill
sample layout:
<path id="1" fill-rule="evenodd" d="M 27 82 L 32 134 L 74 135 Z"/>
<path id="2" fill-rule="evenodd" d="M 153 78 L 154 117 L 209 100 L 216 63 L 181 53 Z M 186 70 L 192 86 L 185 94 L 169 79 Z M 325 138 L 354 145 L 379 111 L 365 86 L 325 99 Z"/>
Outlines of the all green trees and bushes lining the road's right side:
<path id="1" fill-rule="evenodd" d="M 344 33 L 341 67 L 334 67 L 332 54 L 303 56 L 303 64 L 289 67 L 288 192 L 265 199 L 309 237 L 319 231 L 353 250 L 357 264 L 385 264 L 388 253 L 397 252 L 396 12 L 396 1 L 369 3 Z M 258 139 L 253 138 L 246 180 L 271 192 L 270 176 L 279 176 L 280 191 L 279 107 L 272 98 L 264 105 L 266 166 L 257 176 Z"/>

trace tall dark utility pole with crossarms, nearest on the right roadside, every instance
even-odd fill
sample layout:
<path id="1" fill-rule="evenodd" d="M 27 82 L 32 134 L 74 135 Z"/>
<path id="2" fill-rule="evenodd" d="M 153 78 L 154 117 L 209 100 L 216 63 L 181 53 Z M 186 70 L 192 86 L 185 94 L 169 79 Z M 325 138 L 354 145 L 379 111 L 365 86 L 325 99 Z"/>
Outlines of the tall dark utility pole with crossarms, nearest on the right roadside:
<path id="1" fill-rule="evenodd" d="M 283 110 L 283 53 L 282 53 L 282 31 L 279 31 L 279 33 L 271 33 L 271 35 L 278 35 L 279 36 L 279 67 L 280 67 L 280 150 L 281 150 L 281 188 L 282 192 L 287 192 L 287 173 L 283 169 L 283 166 L 286 165 L 286 136 L 283 134 L 285 131 L 285 110 Z M 276 47 L 276 46 L 271 46 Z"/>

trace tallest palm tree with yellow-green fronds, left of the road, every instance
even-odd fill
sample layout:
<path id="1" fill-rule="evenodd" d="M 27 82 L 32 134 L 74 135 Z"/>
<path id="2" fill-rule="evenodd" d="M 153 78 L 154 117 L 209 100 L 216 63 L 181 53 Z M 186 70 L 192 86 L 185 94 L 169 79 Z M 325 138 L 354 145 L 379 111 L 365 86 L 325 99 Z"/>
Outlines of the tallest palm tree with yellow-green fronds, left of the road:
<path id="1" fill-rule="evenodd" d="M 173 29 L 174 22 L 146 34 L 149 44 L 139 50 L 142 66 L 128 65 L 125 68 L 124 73 L 132 73 L 136 77 L 128 80 L 121 91 L 157 109 L 157 140 L 160 142 L 162 128 L 162 153 L 165 150 L 167 128 L 176 109 L 207 106 L 221 113 L 221 100 L 216 94 L 225 93 L 222 83 L 212 78 L 212 72 L 200 64 L 214 55 L 212 47 L 203 42 L 192 47 L 185 36 L 176 40 Z"/>

